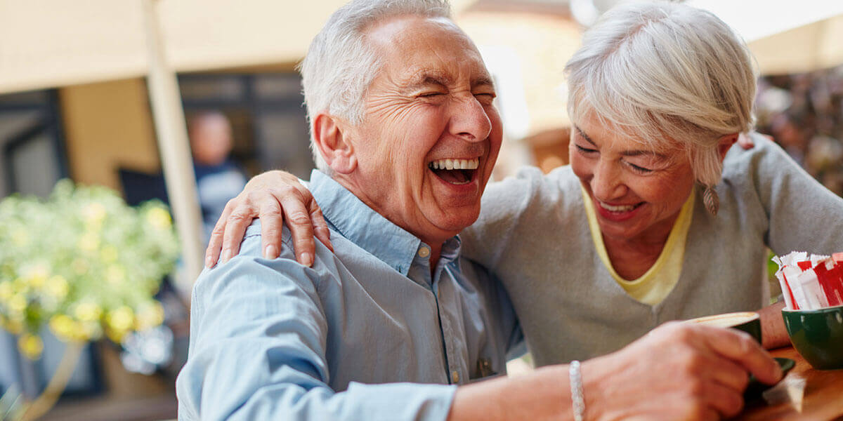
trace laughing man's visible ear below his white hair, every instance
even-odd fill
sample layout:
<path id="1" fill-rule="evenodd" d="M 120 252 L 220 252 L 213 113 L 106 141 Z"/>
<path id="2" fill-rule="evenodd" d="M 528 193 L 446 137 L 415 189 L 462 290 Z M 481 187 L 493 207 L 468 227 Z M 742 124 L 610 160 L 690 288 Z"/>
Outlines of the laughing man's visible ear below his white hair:
<path id="1" fill-rule="evenodd" d="M 354 146 L 344 134 L 346 122 L 332 115 L 319 113 L 314 119 L 314 142 L 325 163 L 336 173 L 347 174 L 357 168 Z"/>

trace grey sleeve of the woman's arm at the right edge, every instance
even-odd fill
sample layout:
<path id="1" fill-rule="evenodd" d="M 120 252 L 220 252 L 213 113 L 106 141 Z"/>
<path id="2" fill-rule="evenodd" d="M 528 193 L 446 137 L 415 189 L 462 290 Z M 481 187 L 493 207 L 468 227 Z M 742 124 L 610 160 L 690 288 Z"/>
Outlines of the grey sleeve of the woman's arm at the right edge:
<path id="1" fill-rule="evenodd" d="M 767 218 L 765 243 L 776 254 L 843 251 L 843 199 L 826 189 L 775 143 L 755 139 L 742 154 Z M 744 157 L 745 155 L 745 157 Z"/>

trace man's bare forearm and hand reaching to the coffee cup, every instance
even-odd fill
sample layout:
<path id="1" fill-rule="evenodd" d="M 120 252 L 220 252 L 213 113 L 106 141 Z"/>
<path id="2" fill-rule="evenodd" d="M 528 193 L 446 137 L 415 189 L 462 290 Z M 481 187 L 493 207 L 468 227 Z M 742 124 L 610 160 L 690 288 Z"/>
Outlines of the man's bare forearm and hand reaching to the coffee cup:
<path id="1" fill-rule="evenodd" d="M 589 420 L 731 418 L 744 408 L 748 373 L 767 384 L 781 380 L 779 365 L 749 334 L 680 322 L 583 362 L 581 372 Z M 573 418 L 566 365 L 459 386 L 448 413 L 448 421 Z"/>

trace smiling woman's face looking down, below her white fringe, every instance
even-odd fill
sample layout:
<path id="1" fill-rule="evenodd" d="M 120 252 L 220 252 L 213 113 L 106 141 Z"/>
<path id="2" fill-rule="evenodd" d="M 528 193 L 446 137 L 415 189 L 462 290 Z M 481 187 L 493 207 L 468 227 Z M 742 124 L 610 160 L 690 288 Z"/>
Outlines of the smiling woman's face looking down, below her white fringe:
<path id="1" fill-rule="evenodd" d="M 684 151 L 653 152 L 587 117 L 577 121 L 571 168 L 597 213 L 600 231 L 617 241 L 663 242 L 694 187 Z"/>

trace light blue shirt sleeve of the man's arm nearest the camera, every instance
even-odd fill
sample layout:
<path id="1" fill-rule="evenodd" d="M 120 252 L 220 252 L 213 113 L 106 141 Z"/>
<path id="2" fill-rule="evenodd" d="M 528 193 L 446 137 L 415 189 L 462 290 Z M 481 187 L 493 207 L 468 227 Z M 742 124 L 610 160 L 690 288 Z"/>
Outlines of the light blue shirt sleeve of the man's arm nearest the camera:
<path id="1" fill-rule="evenodd" d="M 296 263 L 287 242 L 281 258 L 255 256 L 256 235 L 194 286 L 190 352 L 176 381 L 179 419 L 447 418 L 455 386 L 352 382 L 332 390 L 318 287 L 330 271 L 319 256 L 313 268 Z"/>

